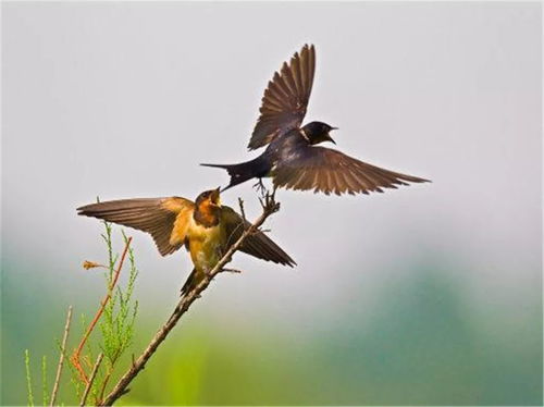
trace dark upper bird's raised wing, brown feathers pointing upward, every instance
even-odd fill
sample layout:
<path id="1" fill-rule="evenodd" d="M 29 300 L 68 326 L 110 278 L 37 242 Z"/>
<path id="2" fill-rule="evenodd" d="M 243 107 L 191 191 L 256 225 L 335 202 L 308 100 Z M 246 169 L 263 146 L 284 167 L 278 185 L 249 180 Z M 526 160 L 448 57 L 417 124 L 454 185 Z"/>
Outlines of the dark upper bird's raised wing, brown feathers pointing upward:
<path id="1" fill-rule="evenodd" d="M 310 99 L 314 71 L 313 46 L 304 46 L 289 64 L 283 63 L 280 73 L 274 74 L 264 90 L 261 114 L 248 145 L 250 150 L 263 147 L 275 136 L 300 126 Z"/>

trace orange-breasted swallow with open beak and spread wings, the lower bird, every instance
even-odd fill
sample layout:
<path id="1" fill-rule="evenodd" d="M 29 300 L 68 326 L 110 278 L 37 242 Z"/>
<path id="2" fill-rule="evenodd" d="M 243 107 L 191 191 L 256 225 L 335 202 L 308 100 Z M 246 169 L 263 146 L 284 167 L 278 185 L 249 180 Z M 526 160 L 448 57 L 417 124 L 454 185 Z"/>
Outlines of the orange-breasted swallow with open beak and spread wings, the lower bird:
<path id="1" fill-rule="evenodd" d="M 221 205 L 219 188 L 203 192 L 196 202 L 180 197 L 121 199 L 86 205 L 77 213 L 147 232 L 162 256 L 185 246 L 195 269 L 182 294 L 198 285 L 249 226 L 232 208 Z M 262 232 L 249 235 L 240 250 L 262 260 L 296 264 Z"/>

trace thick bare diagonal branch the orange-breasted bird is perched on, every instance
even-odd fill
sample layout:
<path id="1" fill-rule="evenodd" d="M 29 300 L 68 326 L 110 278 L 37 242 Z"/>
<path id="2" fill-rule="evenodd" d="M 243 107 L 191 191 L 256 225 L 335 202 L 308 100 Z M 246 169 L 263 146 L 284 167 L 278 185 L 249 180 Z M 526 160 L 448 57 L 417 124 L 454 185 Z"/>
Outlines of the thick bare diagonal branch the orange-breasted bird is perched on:
<path id="1" fill-rule="evenodd" d="M 174 311 L 170 316 L 169 320 L 162 325 L 162 328 L 157 332 L 154 337 L 151 340 L 146 350 L 138 357 L 138 359 L 133 360 L 132 367 L 126 371 L 126 373 L 119 380 L 111 393 L 102 400 L 100 406 L 111 406 L 119 397 L 128 392 L 128 384 L 136 378 L 136 375 L 144 369 L 146 362 L 154 354 L 159 345 L 166 338 L 168 334 L 175 326 L 180 318 L 189 309 L 190 305 L 195 299 L 200 297 L 200 293 L 203 292 L 212 279 L 220 272 L 222 272 L 226 263 L 232 260 L 232 256 L 236 250 L 239 249 L 247 236 L 258 231 L 258 229 L 264 223 L 264 221 L 274 212 L 280 210 L 280 203 L 274 201 L 274 195 L 268 195 L 265 203 L 262 205 L 261 215 L 251 224 L 232 245 L 221 260 L 215 264 L 215 267 L 208 273 L 208 275 L 190 292 L 180 299 Z"/>

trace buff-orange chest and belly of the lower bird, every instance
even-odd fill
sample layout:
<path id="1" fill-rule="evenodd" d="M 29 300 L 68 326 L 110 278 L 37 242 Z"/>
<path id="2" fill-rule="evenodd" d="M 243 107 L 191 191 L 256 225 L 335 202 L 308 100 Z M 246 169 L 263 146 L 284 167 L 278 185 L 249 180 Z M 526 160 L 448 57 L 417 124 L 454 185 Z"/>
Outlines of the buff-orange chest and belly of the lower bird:
<path id="1" fill-rule="evenodd" d="M 209 271 L 221 259 L 226 239 L 224 229 L 221 223 L 211 227 L 191 223 L 188 242 L 190 258 L 198 270 Z"/>

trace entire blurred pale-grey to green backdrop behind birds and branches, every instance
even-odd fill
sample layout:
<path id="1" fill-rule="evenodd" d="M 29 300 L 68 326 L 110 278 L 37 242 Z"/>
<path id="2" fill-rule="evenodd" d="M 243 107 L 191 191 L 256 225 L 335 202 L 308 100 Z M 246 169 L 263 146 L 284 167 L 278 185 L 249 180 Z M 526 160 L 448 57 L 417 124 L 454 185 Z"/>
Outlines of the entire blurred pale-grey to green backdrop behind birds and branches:
<path id="1" fill-rule="evenodd" d="M 267 82 L 313 42 L 308 120 L 433 184 L 280 192 L 268 225 L 297 268 L 237 255 L 245 272 L 217 279 L 120 404 L 542 405 L 540 3 L 1 7 L 2 404 L 26 404 L 25 349 L 40 400 L 66 307 L 72 349 L 103 296 L 81 266 L 106 261 L 101 227 L 75 208 L 224 185 L 198 163 L 254 157 Z M 222 200 L 238 196 L 255 217 L 249 185 Z M 190 264 L 128 233 L 137 355 Z M 60 399 L 77 403 L 67 371 Z"/>

